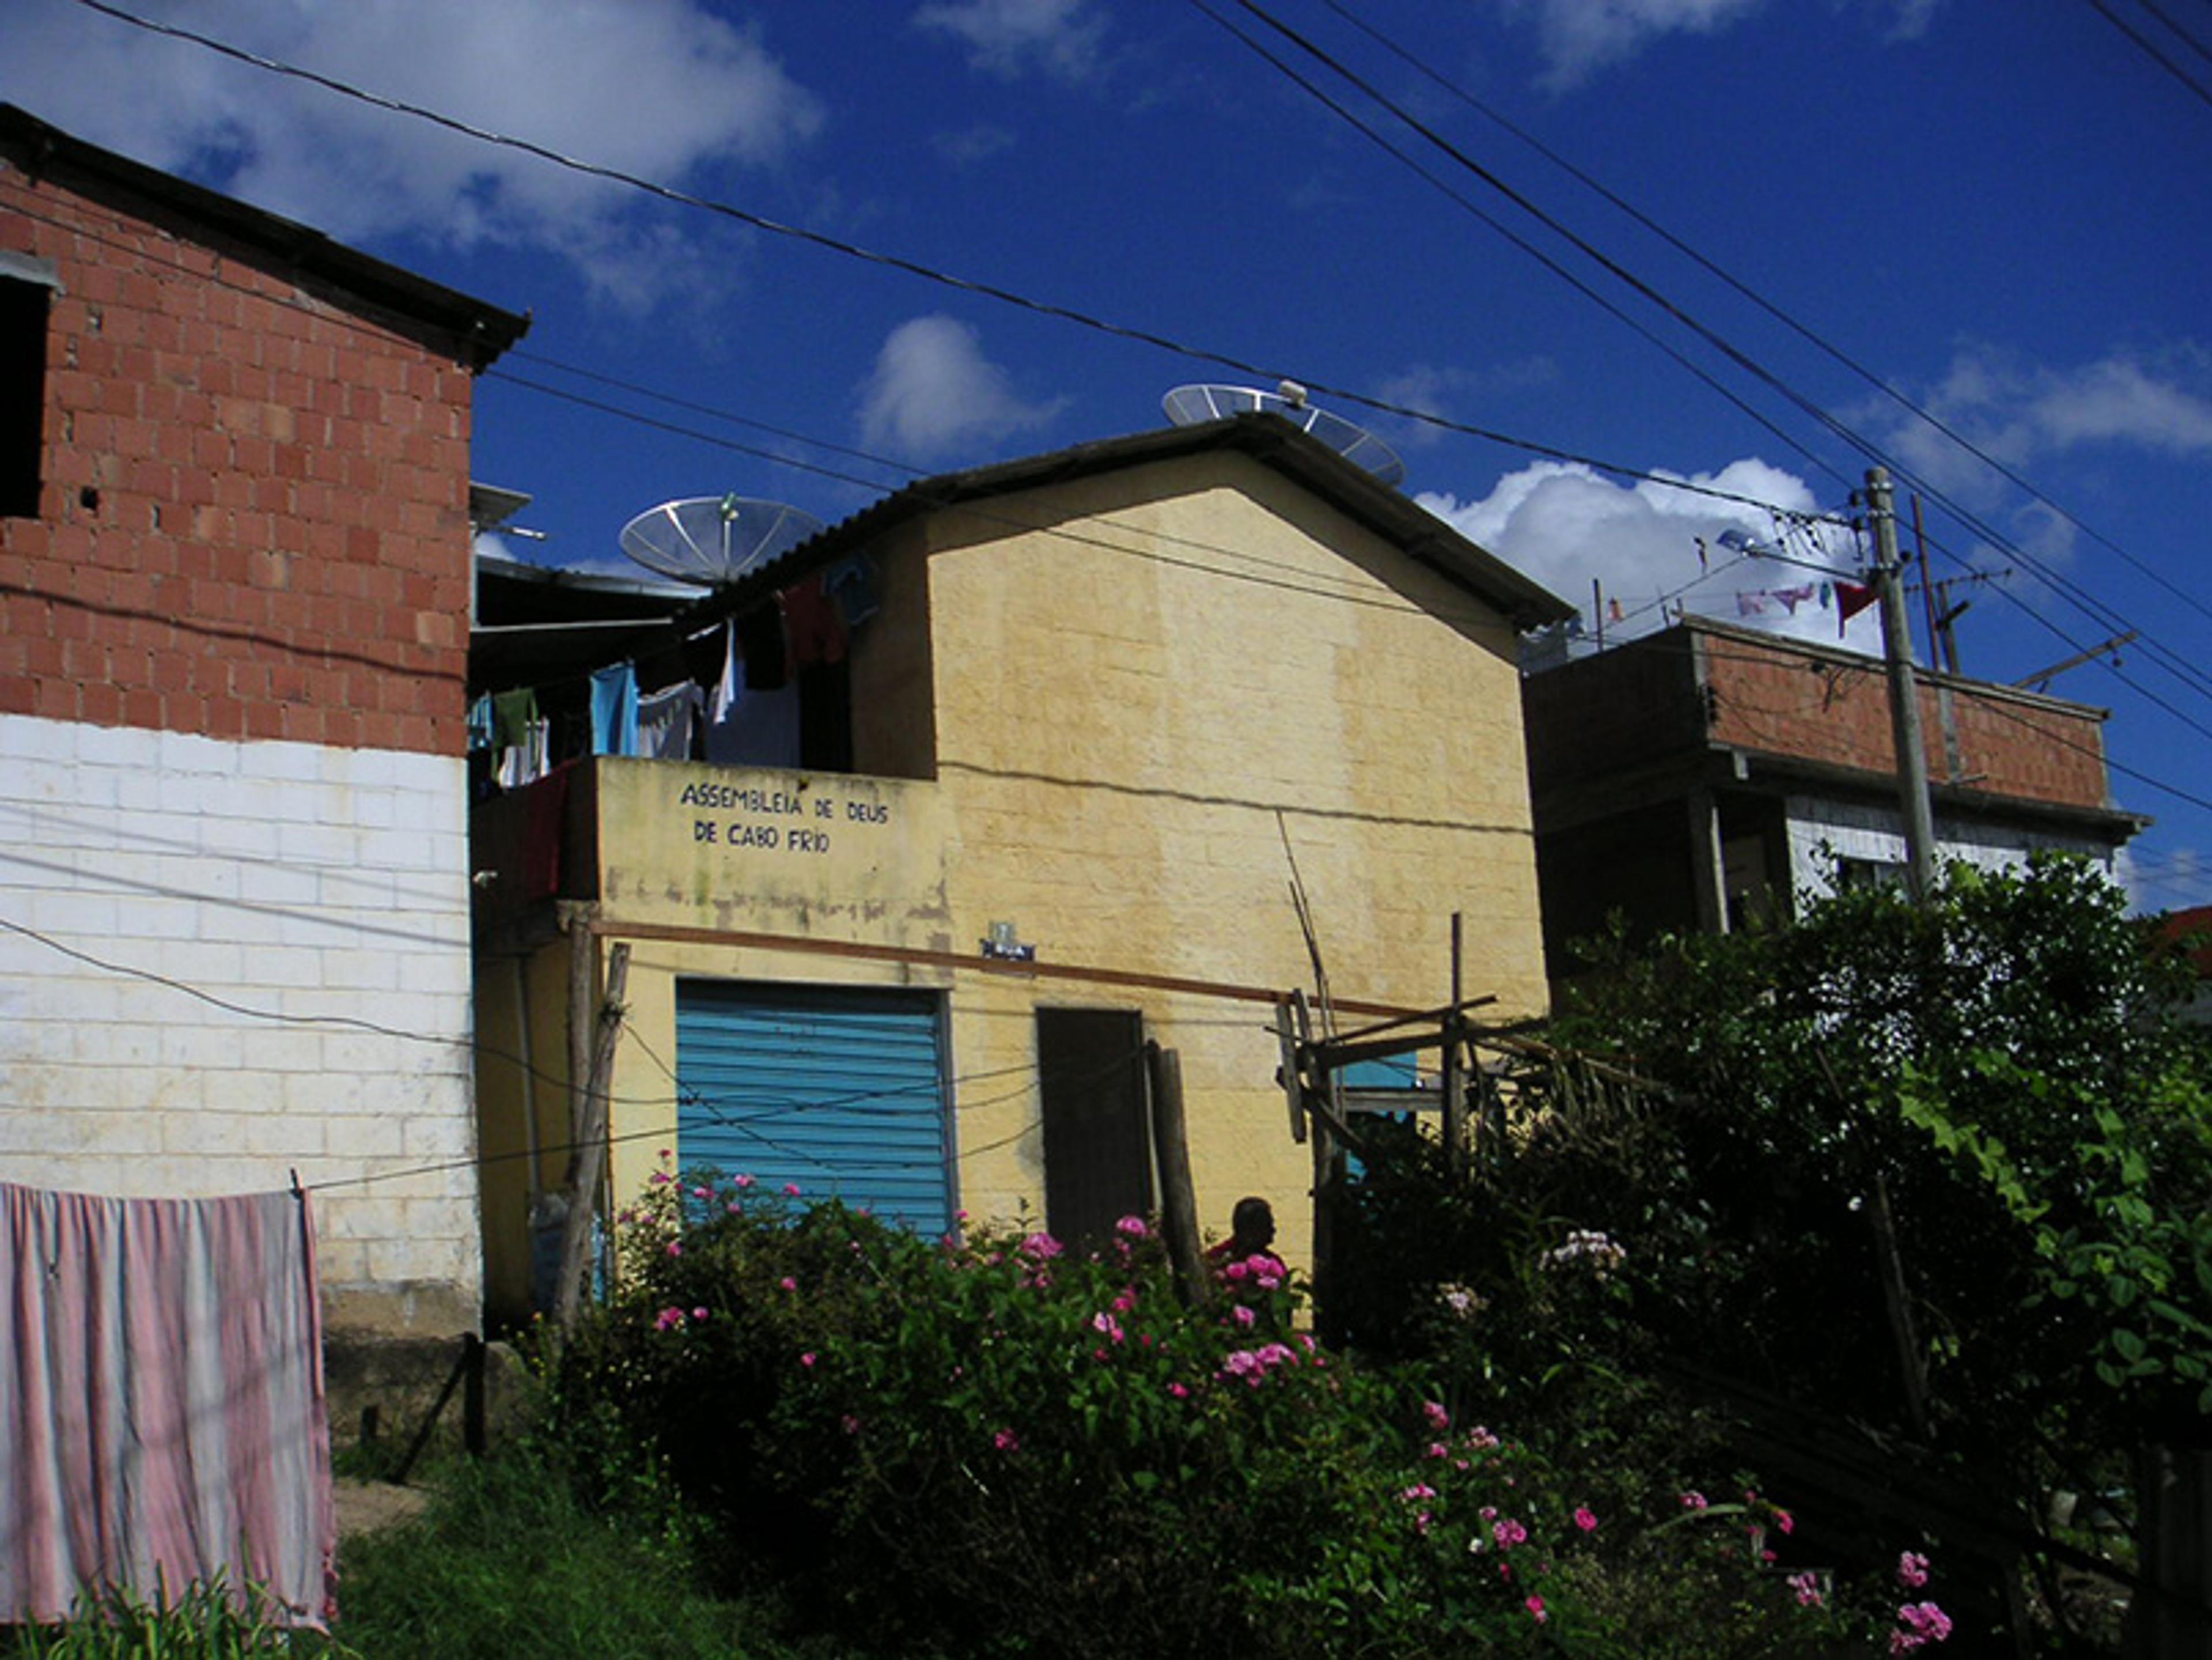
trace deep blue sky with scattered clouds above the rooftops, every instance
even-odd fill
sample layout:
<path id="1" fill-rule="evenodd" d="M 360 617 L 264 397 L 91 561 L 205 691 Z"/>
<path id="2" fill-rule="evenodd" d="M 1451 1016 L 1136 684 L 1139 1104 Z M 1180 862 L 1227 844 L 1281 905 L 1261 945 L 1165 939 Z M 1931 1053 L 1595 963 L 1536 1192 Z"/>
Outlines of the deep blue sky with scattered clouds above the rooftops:
<path id="1" fill-rule="evenodd" d="M 1332 389 L 1418 500 L 1577 603 L 1601 584 L 1615 628 L 1666 597 L 1834 639 L 1816 608 L 1741 599 L 1801 572 L 1714 557 L 1701 579 L 1697 539 L 1814 553 L 1728 497 L 1840 513 L 1880 453 L 1929 493 L 1933 575 L 1991 575 L 1955 590 L 1966 672 L 2015 681 L 2139 630 L 2053 692 L 2112 710 L 2115 796 L 2159 820 L 2139 902 L 2212 900 L 2194 0 L 117 4 L 1113 325 L 80 0 L 7 0 L 0 97 L 533 312 L 476 442 L 478 477 L 535 495 L 531 557 L 617 559 L 619 526 L 681 495 L 836 519 L 1248 378 L 1144 334 Z M 1838 535 L 1823 557 L 1860 555 Z M 1876 645 L 1871 614 L 1851 643 Z"/>

